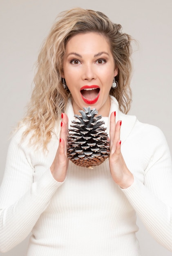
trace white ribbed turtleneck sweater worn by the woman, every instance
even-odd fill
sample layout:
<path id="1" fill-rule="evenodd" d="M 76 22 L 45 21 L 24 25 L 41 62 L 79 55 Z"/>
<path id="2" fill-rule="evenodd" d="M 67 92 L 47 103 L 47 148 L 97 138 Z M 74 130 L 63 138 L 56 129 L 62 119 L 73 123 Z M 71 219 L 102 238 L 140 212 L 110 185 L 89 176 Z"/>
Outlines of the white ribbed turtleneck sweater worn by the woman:
<path id="1" fill-rule="evenodd" d="M 122 120 L 121 151 L 134 183 L 121 189 L 112 180 L 108 159 L 94 169 L 69 162 L 64 182 L 51 166 L 58 148 L 57 124 L 48 152 L 13 136 L 0 188 L 0 252 L 32 236 L 27 256 L 140 256 L 136 213 L 152 236 L 172 251 L 172 163 L 159 128 L 124 115 L 111 97 L 111 109 Z M 109 114 L 110 114 L 109 113 Z M 74 112 L 69 101 L 69 124 Z M 109 133 L 109 118 L 103 118 Z"/>

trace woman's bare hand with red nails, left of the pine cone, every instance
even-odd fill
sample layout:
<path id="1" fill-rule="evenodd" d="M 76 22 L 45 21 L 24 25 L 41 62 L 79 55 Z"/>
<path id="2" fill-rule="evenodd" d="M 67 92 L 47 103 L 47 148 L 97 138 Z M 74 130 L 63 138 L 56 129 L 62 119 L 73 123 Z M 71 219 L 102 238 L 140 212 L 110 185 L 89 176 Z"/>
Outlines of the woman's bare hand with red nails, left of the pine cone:
<path id="1" fill-rule="evenodd" d="M 50 171 L 54 179 L 58 182 L 63 182 L 66 177 L 69 159 L 67 158 L 67 137 L 68 137 L 68 117 L 65 113 L 62 114 L 60 140 L 56 156 L 50 167 Z"/>

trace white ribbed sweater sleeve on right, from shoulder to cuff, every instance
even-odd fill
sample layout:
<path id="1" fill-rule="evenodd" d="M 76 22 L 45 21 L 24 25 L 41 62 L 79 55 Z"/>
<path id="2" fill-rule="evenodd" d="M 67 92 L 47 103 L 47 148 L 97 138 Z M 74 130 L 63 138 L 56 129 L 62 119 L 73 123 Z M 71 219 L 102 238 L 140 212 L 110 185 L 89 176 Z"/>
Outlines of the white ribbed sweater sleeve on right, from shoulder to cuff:
<path id="1" fill-rule="evenodd" d="M 145 139 L 145 137 L 144 137 Z M 134 183 L 122 189 L 155 240 L 172 251 L 172 162 L 166 139 L 155 128 L 148 138 L 152 148 L 142 183 L 134 175 Z"/>

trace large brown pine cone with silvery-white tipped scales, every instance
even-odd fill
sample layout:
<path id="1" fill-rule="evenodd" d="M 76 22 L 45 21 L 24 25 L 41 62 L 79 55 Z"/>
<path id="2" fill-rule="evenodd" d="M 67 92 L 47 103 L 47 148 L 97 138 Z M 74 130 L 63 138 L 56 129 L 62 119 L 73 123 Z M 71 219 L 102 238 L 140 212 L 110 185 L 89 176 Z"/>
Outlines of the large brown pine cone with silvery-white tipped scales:
<path id="1" fill-rule="evenodd" d="M 74 115 L 78 121 L 72 121 L 69 129 L 68 158 L 76 165 L 92 168 L 102 164 L 109 157 L 109 142 L 107 141 L 104 121 L 96 108 L 79 110 L 81 116 Z"/>

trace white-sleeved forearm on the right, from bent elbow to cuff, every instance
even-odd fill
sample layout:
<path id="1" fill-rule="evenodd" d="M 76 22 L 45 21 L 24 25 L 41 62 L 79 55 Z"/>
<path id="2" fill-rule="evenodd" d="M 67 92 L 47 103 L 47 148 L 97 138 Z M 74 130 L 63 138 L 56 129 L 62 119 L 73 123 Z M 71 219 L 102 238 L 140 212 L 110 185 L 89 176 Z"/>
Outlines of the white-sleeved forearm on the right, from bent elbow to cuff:
<path id="1" fill-rule="evenodd" d="M 172 251 L 172 209 L 137 178 L 123 192 L 155 240 Z"/>

